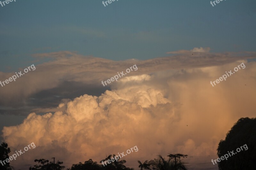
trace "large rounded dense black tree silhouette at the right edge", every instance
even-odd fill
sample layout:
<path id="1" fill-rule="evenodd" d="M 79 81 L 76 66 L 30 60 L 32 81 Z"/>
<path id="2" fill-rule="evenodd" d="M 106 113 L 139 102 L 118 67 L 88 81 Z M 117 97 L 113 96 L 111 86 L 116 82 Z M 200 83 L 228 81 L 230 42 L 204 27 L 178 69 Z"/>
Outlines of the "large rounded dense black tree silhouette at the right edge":
<path id="1" fill-rule="evenodd" d="M 248 147 L 244 149 L 244 145 Z M 234 151 L 235 155 L 228 156 L 227 160 L 218 162 L 220 170 L 234 170 L 234 169 L 256 169 L 256 118 L 240 118 L 234 126 L 228 131 L 225 140 L 221 140 L 218 146 L 218 156 Z M 244 149 L 239 153 L 237 148 Z M 245 147 L 245 148 L 247 148 Z M 241 148 L 240 148 L 241 149 Z M 236 153 L 237 152 L 237 153 Z"/>

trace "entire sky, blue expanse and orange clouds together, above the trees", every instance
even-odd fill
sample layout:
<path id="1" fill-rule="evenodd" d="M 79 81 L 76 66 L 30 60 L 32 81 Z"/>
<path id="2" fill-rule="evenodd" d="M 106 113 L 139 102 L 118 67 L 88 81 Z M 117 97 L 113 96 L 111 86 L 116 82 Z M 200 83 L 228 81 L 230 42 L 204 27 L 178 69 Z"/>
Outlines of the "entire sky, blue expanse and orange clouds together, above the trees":
<path id="1" fill-rule="evenodd" d="M 190 169 L 218 169 L 211 159 L 220 140 L 239 118 L 255 117 L 255 5 L 0 5 L 0 81 L 35 66 L 0 86 L 0 139 L 12 153 L 36 145 L 11 165 L 25 169 L 34 159 L 56 157 L 70 167 L 137 146 L 125 157 L 135 170 L 137 160 L 169 153 L 191 156 Z M 227 80 L 210 84 L 238 65 Z"/>

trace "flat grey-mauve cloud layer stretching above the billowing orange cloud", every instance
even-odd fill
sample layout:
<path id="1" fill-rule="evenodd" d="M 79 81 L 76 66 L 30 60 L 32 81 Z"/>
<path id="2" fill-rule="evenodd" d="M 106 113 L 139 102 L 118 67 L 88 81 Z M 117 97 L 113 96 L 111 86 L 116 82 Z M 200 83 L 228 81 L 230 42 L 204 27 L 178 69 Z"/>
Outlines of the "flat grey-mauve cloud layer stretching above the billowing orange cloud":
<path id="1" fill-rule="evenodd" d="M 178 54 L 169 57 L 159 57 L 149 60 L 112 61 L 92 56 L 83 56 L 75 52 L 60 51 L 52 53 L 34 54 L 36 58 L 48 57 L 51 61 L 38 64 L 36 70 L 29 71 L 22 77 L 10 82 L 4 87 L 0 86 L 0 114 L 27 115 L 28 112 L 45 113 L 53 111 L 62 99 L 73 100 L 81 94 L 99 96 L 110 88 L 117 88 L 118 82 L 129 79 L 149 78 L 157 71 L 192 69 L 200 67 L 221 66 L 237 60 L 255 58 L 255 52 L 240 53 L 201 53 L 194 55 Z M 107 80 L 137 65 L 138 70 L 129 73 L 118 82 L 105 87 L 101 81 Z M 24 68 L 17 69 L 19 72 Z M 15 72 L 0 72 L 0 80 L 4 81 L 15 75 Z M 136 77 L 137 76 L 137 77 Z M 158 75 L 161 76 L 161 75 Z M 147 83 L 147 81 L 145 82 Z M 120 86 L 118 87 L 120 88 Z M 10 108 L 10 109 L 5 109 Z"/>

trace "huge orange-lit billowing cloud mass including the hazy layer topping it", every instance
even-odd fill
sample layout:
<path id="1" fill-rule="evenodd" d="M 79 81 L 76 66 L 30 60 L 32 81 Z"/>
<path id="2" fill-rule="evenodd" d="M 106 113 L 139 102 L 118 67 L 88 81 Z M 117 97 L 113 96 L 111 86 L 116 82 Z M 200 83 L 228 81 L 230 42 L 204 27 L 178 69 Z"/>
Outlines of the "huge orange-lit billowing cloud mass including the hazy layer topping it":
<path id="1" fill-rule="evenodd" d="M 168 153 L 216 155 L 219 141 L 233 124 L 240 117 L 255 116 L 256 63 L 245 60 L 255 53 L 236 55 L 209 54 L 200 60 L 197 55 L 179 55 L 133 63 L 75 54 L 44 63 L 36 67 L 36 74 L 27 73 L 29 90 L 23 90 L 33 94 L 58 88 L 63 79 L 97 85 L 134 64 L 138 70 L 109 84 L 110 89 L 98 96 L 84 94 L 63 100 L 53 107 L 55 113 L 31 113 L 21 124 L 4 127 L 4 141 L 12 152 L 32 142 L 36 145 L 15 164 L 51 159 L 52 155 L 65 163 L 90 158 L 99 162 L 106 154 L 126 152 L 135 145 L 139 151 L 125 160 Z M 210 85 L 242 62 L 245 69 Z M 172 69 L 172 64 L 178 69 Z"/>

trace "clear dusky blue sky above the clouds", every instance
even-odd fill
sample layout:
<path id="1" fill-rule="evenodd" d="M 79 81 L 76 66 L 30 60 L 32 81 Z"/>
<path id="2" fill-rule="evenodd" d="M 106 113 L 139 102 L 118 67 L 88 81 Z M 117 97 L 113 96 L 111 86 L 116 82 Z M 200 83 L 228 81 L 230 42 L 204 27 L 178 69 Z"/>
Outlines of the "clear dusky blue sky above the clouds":
<path id="1" fill-rule="evenodd" d="M 253 0 L 214 7 L 207 0 L 119 0 L 106 7 L 98 0 L 13 1 L 0 6 L 0 71 L 27 67 L 34 53 L 56 51 L 111 60 L 145 60 L 194 47 L 253 51 L 255 5 Z"/>

